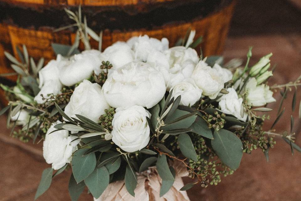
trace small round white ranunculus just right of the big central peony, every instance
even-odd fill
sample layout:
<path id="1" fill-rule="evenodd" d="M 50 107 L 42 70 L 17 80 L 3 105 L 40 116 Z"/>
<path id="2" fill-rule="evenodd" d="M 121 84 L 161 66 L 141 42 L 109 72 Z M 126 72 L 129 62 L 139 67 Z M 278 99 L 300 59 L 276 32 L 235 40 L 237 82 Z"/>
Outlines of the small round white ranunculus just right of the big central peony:
<path id="1" fill-rule="evenodd" d="M 175 99 L 181 95 L 180 105 L 182 106 L 193 106 L 202 95 L 203 90 L 199 89 L 194 83 L 193 79 L 184 79 L 173 86 L 170 90 L 172 91 L 172 97 Z"/>

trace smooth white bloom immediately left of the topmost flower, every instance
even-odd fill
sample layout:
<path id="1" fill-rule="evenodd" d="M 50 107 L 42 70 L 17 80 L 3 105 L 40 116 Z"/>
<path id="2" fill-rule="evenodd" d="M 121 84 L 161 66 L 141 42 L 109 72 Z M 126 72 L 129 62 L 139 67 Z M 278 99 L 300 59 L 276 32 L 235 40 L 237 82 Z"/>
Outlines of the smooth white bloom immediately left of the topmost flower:
<path id="1" fill-rule="evenodd" d="M 114 69 L 120 68 L 123 65 L 134 61 L 134 52 L 125 42 L 116 42 L 108 46 L 100 55 L 101 61 L 109 61 Z M 100 66 L 94 68 L 94 73 L 99 74 L 103 71 Z"/>

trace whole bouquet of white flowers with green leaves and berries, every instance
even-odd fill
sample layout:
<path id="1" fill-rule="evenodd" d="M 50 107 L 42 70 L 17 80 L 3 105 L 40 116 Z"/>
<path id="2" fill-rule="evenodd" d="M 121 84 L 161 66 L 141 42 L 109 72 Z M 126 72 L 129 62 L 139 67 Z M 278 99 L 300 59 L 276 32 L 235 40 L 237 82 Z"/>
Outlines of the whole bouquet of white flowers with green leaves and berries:
<path id="1" fill-rule="evenodd" d="M 78 14 L 67 13 L 78 20 Z M 268 159 L 274 136 L 301 151 L 294 133 L 273 130 L 284 112 L 283 99 L 292 87 L 297 89 L 301 76 L 270 87 L 272 53 L 249 67 L 250 48 L 244 67 L 236 60 L 223 68 L 221 57 L 203 58 L 192 48 L 200 42 L 193 42 L 194 31 L 171 48 L 166 38 L 140 35 L 100 52 L 91 49 L 89 37 L 100 41 L 100 48 L 101 37 L 86 23 L 77 25 L 75 44 L 53 44 L 57 58 L 43 68 L 43 59 L 36 65 L 25 46 L 23 54 L 19 51 L 21 62 L 6 53 L 19 79 L 14 87 L 1 85 L 9 104 L 0 113 L 9 111 L 13 129 L 23 126 L 12 130 L 15 136 L 44 140 L 43 155 L 51 164 L 35 198 L 70 163 L 72 200 L 85 186 L 99 198 L 109 183 L 118 181 L 135 196 L 141 175 L 151 170 L 161 178 L 159 195 L 154 195 L 161 197 L 173 187 L 178 163 L 192 178 L 176 189 L 185 191 L 197 183 L 217 185 L 253 149 L 262 149 Z M 80 40 L 83 52 L 77 50 Z M 266 113 L 272 110 L 266 105 L 276 101 L 271 88 L 283 88 L 283 99 L 272 128 L 264 131 Z"/>

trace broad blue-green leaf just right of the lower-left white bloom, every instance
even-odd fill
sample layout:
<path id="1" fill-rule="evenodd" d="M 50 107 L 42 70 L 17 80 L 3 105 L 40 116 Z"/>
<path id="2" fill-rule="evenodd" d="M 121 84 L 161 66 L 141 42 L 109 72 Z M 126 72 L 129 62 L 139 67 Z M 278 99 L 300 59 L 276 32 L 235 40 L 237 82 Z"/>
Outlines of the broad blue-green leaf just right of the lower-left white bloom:
<path id="1" fill-rule="evenodd" d="M 95 153 L 83 156 L 86 151 L 86 149 L 79 149 L 72 157 L 72 172 L 77 183 L 86 179 L 94 171 L 96 166 Z"/>

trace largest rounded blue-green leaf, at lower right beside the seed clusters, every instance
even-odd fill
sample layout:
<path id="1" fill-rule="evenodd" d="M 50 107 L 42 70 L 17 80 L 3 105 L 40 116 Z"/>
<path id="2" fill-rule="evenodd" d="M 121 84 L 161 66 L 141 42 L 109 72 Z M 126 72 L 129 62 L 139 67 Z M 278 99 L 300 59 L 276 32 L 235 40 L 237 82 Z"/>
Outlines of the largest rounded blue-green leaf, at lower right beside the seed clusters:
<path id="1" fill-rule="evenodd" d="M 240 139 L 232 132 L 220 129 L 214 131 L 212 148 L 219 156 L 220 160 L 228 167 L 236 170 L 240 165 L 243 145 Z"/>

